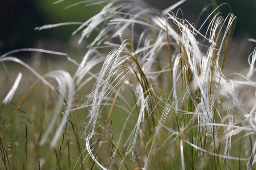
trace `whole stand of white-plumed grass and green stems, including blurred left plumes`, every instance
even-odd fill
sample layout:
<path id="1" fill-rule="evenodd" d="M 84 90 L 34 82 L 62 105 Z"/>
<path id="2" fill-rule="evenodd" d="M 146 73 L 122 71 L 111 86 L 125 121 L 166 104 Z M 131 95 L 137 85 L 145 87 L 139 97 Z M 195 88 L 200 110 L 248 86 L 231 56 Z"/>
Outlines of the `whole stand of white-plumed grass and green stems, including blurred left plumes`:
<path id="1" fill-rule="evenodd" d="M 65 53 L 34 48 L 3 54 L 0 62 L 4 68 L 6 61 L 18 62 L 38 78 L 17 105 L 9 103 L 15 111 L 1 129 L 3 140 L 9 142 L 7 136 L 12 133 L 13 124 L 26 124 L 23 127 L 26 131 L 17 134 L 25 136 L 18 150 L 26 147 L 26 159 L 13 166 L 103 170 L 255 169 L 256 51 L 249 56 L 247 74 L 225 76 L 222 72 L 236 17 L 232 13 L 221 16 L 219 8 L 228 7 L 222 4 L 209 14 L 202 26 L 195 26 L 182 18 L 180 10 L 172 12 L 183 2 L 158 11 L 140 0 L 81 1 L 67 8 L 83 4 L 104 7 L 84 23 L 35 28 L 79 24 L 72 34 L 80 35 L 78 43 L 97 33 L 81 61 Z M 207 28 L 204 34 L 203 28 Z M 55 70 L 41 75 L 12 57 L 21 51 L 67 57 L 76 71 L 70 74 L 71 71 Z M 3 100 L 4 105 L 12 100 L 23 78 L 24 75 L 18 74 Z M 51 101 L 54 108 L 42 107 L 39 122 L 35 124 L 29 111 L 21 108 L 30 93 L 39 90 L 39 82 L 44 85 L 44 94 L 52 91 L 49 96 L 57 97 Z M 47 98 L 44 101 L 49 103 Z M 13 156 L 9 158 L 3 140 L 0 141 L 2 166 L 8 169 L 18 151 L 11 150 Z M 15 140 L 17 137 L 11 138 Z M 30 145 L 36 150 L 29 149 Z M 29 161 L 29 155 L 33 155 L 34 162 Z"/>

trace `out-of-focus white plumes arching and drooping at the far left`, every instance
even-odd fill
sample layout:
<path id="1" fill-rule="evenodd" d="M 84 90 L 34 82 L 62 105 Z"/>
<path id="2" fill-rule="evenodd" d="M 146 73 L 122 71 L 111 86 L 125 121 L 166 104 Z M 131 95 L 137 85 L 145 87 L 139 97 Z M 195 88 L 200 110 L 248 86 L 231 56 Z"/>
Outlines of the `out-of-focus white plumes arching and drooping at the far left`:
<path id="1" fill-rule="evenodd" d="M 35 48 L 18 49 L 18 50 L 10 51 L 10 52 L 0 56 L 0 62 L 13 61 L 13 62 L 17 62 L 17 63 L 20 63 L 21 65 L 25 66 L 33 74 L 35 74 L 35 76 L 38 77 L 45 85 L 49 86 L 52 90 L 55 90 L 54 86 L 51 85 L 45 78 L 47 78 L 47 77 L 54 78 L 58 82 L 58 85 L 59 85 L 59 88 L 60 88 L 60 96 L 59 96 L 59 99 L 58 99 L 58 103 L 57 103 L 57 106 L 55 108 L 55 113 L 54 113 L 53 119 L 52 119 L 52 121 L 51 121 L 51 123 L 50 123 L 50 125 L 47 129 L 47 132 L 43 136 L 40 144 L 44 144 L 44 142 L 46 142 L 49 133 L 52 131 L 52 128 L 53 128 L 53 126 L 56 122 L 56 119 L 57 119 L 57 115 L 58 115 L 58 113 L 61 112 L 63 98 L 66 96 L 66 91 L 68 91 L 67 110 L 65 112 L 66 114 L 64 115 L 63 121 L 61 122 L 61 125 L 58 128 L 57 132 L 55 133 L 55 136 L 53 137 L 52 142 L 51 142 L 51 146 L 55 147 L 56 142 L 58 141 L 59 137 L 61 136 L 61 131 L 63 130 L 63 127 L 65 126 L 65 124 L 67 122 L 67 117 L 70 113 L 69 111 L 70 111 L 70 109 L 72 107 L 72 104 L 73 104 L 73 96 L 74 96 L 74 93 L 75 93 L 75 87 L 74 87 L 73 79 L 67 71 L 63 71 L 63 70 L 52 71 L 52 72 L 46 74 L 45 76 L 41 76 L 33 68 L 31 68 L 29 65 L 27 65 L 26 63 L 24 63 L 20 59 L 17 59 L 15 57 L 8 57 L 10 54 L 17 53 L 17 52 L 22 52 L 22 51 L 38 51 L 38 52 L 47 53 L 47 54 L 56 54 L 56 55 L 66 56 L 71 62 L 73 62 L 76 65 L 78 65 L 78 64 L 76 63 L 76 61 L 71 59 L 65 53 L 49 51 L 49 50 L 42 50 L 42 49 L 35 49 Z M 16 88 L 17 88 L 17 85 L 20 82 L 20 79 L 21 79 L 21 74 L 18 75 L 18 77 L 15 81 L 15 85 L 13 86 L 10 93 L 6 96 L 6 99 L 9 99 L 10 97 L 13 96 L 13 94 L 14 94 Z M 6 100 L 4 100 L 4 101 L 6 102 Z"/>

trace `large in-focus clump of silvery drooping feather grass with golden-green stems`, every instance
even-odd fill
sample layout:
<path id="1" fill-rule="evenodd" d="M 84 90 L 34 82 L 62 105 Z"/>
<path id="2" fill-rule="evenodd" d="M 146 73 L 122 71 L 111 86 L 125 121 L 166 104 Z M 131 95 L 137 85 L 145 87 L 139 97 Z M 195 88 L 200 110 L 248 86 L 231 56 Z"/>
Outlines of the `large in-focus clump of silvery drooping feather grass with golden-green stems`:
<path id="1" fill-rule="evenodd" d="M 237 85 L 234 84 L 238 82 L 226 79 L 222 74 L 236 17 L 232 13 L 222 17 L 218 7 L 207 18 L 211 18 L 211 21 L 204 35 L 200 33 L 203 26 L 197 29 L 187 20 L 179 19 L 170 12 L 184 1 L 162 12 L 143 1 L 135 0 L 85 0 L 67 7 L 83 3 L 86 6 L 105 4 L 98 14 L 82 23 L 72 34 L 81 31 L 78 42 L 81 43 L 93 31 L 98 31 L 97 37 L 87 46 L 89 50 L 73 77 L 77 79 L 76 85 L 79 87 L 76 92 L 91 79 L 96 78 L 97 81 L 84 105 L 73 110 L 90 107 L 89 123 L 85 128 L 89 132 L 85 143 L 87 151 L 100 169 L 111 169 L 113 162 L 118 160 L 115 156 L 123 141 L 126 151 L 120 168 L 130 153 L 131 157 L 134 156 L 135 150 L 139 148 L 138 140 L 145 144 L 139 156 L 142 158 L 139 160 L 140 167 L 144 169 L 153 166 L 151 159 L 163 161 L 162 152 L 167 148 L 166 143 L 170 144 L 172 150 L 169 159 L 173 157 L 180 163 L 172 166 L 183 169 L 209 167 L 209 164 L 204 163 L 206 150 L 209 150 L 210 162 L 215 169 L 230 167 L 230 160 L 238 158 L 230 155 L 231 138 L 245 132 L 247 128 L 237 126 L 244 119 L 233 122 L 229 105 L 236 97 L 234 88 Z M 37 29 L 69 24 L 80 23 L 61 23 Z M 200 38 L 205 44 L 198 42 Z M 101 48 L 113 50 L 104 58 Z M 201 48 L 206 48 L 207 54 Z M 254 60 L 250 62 L 247 80 L 254 71 Z M 101 71 L 98 74 L 91 73 L 90 69 L 100 62 L 103 62 Z M 81 83 L 85 74 L 91 77 Z M 117 92 L 122 84 L 130 91 L 134 106 L 127 97 Z M 102 106 L 110 105 L 108 102 L 113 100 L 113 94 L 117 94 L 119 100 L 119 104 L 115 102 L 114 106 L 128 111 L 128 117 L 125 116 L 125 125 L 119 133 L 114 152 L 111 152 L 111 163 L 105 167 L 104 160 L 101 163 L 93 156 L 89 141 L 98 134 L 96 123 L 99 116 L 104 114 Z M 130 135 L 125 136 L 124 132 L 129 131 L 128 122 L 134 121 L 136 123 Z M 137 138 L 139 133 L 143 134 L 140 139 Z M 169 137 L 164 138 L 165 133 L 170 133 Z M 168 142 L 170 138 L 174 142 Z M 100 153 L 97 152 L 97 155 L 100 157 Z M 154 167 L 161 167 L 160 164 L 155 163 Z"/>

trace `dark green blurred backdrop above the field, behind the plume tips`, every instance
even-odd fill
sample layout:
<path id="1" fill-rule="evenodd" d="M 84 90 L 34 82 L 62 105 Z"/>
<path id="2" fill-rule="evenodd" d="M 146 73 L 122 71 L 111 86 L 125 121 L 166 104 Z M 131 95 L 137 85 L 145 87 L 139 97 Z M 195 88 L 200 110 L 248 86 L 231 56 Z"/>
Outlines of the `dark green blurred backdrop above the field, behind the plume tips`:
<path id="1" fill-rule="evenodd" d="M 79 2 L 80 0 L 64 0 L 61 3 L 53 5 L 55 1 L 56 0 L 3 0 L 0 5 L 0 54 L 17 48 L 32 47 L 62 52 L 69 52 L 70 50 L 84 51 L 84 44 L 80 46 L 76 45 L 77 37 L 71 36 L 71 33 L 77 26 L 63 26 L 43 31 L 35 31 L 34 28 L 45 24 L 61 22 L 84 22 L 96 14 L 102 6 L 84 7 L 84 4 L 81 4 L 64 9 L 64 7 Z M 147 3 L 160 10 L 171 6 L 177 1 L 178 0 L 146 0 Z M 234 35 L 235 38 L 256 38 L 256 23 L 253 20 L 256 17 L 255 0 L 187 0 L 180 5 L 179 8 L 182 9 L 184 18 L 194 23 L 201 10 L 211 3 L 217 5 L 222 3 L 230 4 L 232 12 L 238 17 Z M 209 7 L 209 10 L 204 13 L 201 20 L 205 20 L 207 14 L 209 14 L 215 6 Z M 227 5 L 220 8 L 220 10 L 223 14 L 228 14 L 230 11 Z M 85 41 L 92 39 L 93 36 Z"/>

